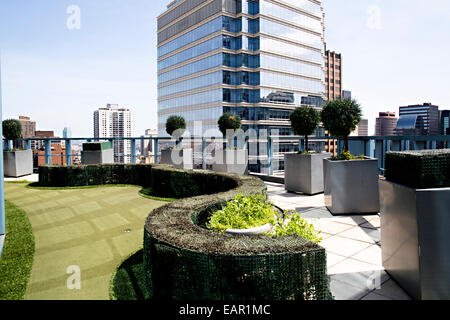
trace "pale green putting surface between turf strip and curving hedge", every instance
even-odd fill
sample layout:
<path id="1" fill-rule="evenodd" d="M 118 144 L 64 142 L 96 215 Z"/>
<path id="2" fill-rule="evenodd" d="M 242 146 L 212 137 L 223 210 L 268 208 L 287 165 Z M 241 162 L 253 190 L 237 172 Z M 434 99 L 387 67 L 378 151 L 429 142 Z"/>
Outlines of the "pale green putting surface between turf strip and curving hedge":
<path id="1" fill-rule="evenodd" d="M 25 299 L 109 299 L 115 269 L 142 247 L 147 215 L 166 203 L 139 196 L 139 187 L 40 190 L 26 185 L 5 184 L 6 199 L 27 213 L 35 237 Z M 68 288 L 74 279 L 71 266 L 79 267 L 81 289 Z"/>

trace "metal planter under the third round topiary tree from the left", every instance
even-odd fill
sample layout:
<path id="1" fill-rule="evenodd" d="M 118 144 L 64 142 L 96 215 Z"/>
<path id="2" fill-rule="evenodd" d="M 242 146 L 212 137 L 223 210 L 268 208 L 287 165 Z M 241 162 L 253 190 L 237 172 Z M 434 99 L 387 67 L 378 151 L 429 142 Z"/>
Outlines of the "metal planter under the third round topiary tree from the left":
<path id="1" fill-rule="evenodd" d="M 220 150 L 214 152 L 212 170 L 248 174 L 248 150 Z"/>

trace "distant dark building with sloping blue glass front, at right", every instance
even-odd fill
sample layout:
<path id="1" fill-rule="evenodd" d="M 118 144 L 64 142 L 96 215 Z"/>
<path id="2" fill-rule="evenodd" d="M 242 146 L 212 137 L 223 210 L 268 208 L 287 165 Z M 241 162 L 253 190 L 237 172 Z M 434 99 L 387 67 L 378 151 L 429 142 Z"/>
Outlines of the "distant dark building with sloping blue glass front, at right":
<path id="1" fill-rule="evenodd" d="M 439 135 L 439 107 L 431 103 L 400 107 L 395 135 Z"/>

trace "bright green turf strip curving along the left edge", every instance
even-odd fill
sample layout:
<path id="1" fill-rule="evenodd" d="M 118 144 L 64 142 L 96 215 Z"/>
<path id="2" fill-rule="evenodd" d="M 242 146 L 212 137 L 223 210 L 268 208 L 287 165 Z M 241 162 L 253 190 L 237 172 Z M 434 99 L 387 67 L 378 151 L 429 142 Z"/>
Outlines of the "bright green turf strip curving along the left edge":
<path id="1" fill-rule="evenodd" d="M 6 201 L 6 237 L 0 258 L 0 300 L 23 300 L 34 256 L 34 236 L 22 209 Z"/>

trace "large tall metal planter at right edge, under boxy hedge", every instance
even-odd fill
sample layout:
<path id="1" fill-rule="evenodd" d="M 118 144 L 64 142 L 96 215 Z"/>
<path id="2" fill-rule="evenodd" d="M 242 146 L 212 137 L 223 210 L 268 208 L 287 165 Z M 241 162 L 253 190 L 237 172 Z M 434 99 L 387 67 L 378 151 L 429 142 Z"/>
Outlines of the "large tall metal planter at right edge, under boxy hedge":
<path id="1" fill-rule="evenodd" d="M 380 180 L 383 267 L 417 300 L 450 299 L 450 188 Z"/>

